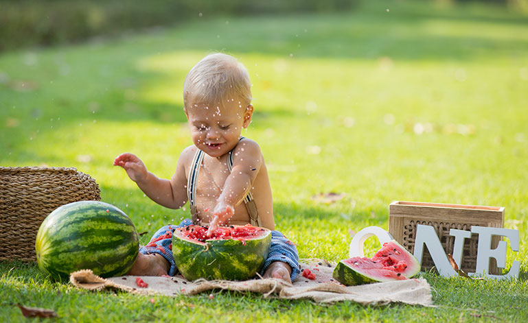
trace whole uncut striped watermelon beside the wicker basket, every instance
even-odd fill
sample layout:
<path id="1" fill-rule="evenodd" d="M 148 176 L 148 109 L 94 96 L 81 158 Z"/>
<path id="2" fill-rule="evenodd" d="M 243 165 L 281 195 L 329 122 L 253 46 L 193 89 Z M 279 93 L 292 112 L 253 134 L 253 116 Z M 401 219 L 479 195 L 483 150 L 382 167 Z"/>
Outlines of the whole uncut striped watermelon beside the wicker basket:
<path id="1" fill-rule="evenodd" d="M 98 201 L 65 204 L 49 213 L 36 235 L 38 267 L 52 278 L 90 269 L 102 277 L 130 271 L 139 251 L 137 231 L 119 208 Z"/>

